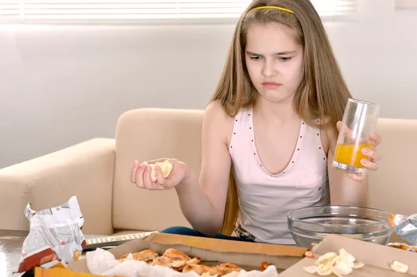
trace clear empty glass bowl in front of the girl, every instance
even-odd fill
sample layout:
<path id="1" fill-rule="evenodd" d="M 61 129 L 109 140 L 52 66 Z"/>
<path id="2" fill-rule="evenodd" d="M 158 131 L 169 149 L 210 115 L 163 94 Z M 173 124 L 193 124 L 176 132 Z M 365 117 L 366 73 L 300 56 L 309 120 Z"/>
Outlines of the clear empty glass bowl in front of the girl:
<path id="1" fill-rule="evenodd" d="M 311 249 L 327 234 L 343 235 L 357 240 L 387 244 L 393 228 L 391 212 L 355 206 L 316 206 L 288 213 L 288 229 L 298 246 Z"/>

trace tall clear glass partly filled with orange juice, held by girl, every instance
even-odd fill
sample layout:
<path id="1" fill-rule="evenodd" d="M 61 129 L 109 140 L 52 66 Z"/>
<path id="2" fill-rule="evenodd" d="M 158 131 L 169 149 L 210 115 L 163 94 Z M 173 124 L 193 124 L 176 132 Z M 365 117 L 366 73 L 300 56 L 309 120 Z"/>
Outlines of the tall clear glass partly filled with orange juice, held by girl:
<path id="1" fill-rule="evenodd" d="M 342 126 L 339 131 L 334 152 L 332 167 L 352 174 L 365 174 L 361 165 L 363 148 L 370 148 L 370 135 L 375 131 L 379 115 L 379 105 L 349 99 L 343 114 Z"/>

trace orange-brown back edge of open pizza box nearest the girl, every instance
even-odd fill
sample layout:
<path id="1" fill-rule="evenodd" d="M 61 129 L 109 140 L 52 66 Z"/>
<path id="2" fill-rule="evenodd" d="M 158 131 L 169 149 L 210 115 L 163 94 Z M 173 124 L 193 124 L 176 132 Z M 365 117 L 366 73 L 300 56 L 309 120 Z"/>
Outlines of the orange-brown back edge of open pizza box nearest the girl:
<path id="1" fill-rule="evenodd" d="M 298 246 L 240 242 L 237 240 L 220 240 L 208 237 L 190 237 L 186 235 L 172 235 L 165 233 L 152 233 L 145 238 L 145 241 L 158 244 L 181 244 L 216 252 L 256 253 L 291 257 L 302 257 L 304 256 L 304 253 L 309 250 Z"/>

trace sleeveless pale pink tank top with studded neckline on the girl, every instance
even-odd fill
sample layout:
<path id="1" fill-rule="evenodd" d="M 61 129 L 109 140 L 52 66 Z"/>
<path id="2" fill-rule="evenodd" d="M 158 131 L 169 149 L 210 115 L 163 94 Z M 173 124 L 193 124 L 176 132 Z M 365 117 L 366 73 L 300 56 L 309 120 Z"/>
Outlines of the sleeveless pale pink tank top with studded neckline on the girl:
<path id="1" fill-rule="evenodd" d="M 229 146 L 240 205 L 235 232 L 256 242 L 293 245 L 288 212 L 330 203 L 320 131 L 302 121 L 291 162 L 280 174 L 270 174 L 256 152 L 252 118 L 252 109 L 238 112 Z"/>

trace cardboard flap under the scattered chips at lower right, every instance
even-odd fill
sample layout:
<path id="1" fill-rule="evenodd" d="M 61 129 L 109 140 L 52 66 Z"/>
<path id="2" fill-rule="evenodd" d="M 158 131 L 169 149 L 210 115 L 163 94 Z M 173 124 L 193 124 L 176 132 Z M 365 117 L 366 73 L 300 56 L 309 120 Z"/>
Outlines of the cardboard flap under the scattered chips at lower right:
<path id="1" fill-rule="evenodd" d="M 357 262 L 365 264 L 361 269 L 354 269 L 349 277 L 355 276 L 417 276 L 417 253 L 411 251 L 404 251 L 402 249 L 395 249 L 390 246 L 375 244 L 372 242 L 363 242 L 361 240 L 354 240 L 340 235 L 327 235 L 316 249 L 315 258 L 304 258 L 295 265 L 289 267 L 284 272 L 279 274 L 282 277 L 286 276 L 300 276 L 311 277 L 304 271 L 303 267 L 314 265 L 320 255 L 327 252 L 338 253 L 340 249 L 345 249 L 351 253 Z M 409 266 L 407 274 L 398 274 L 393 271 L 390 265 L 393 261 L 401 262 Z M 314 274 L 319 276 L 318 274 Z M 335 276 L 334 274 L 330 276 Z"/>

